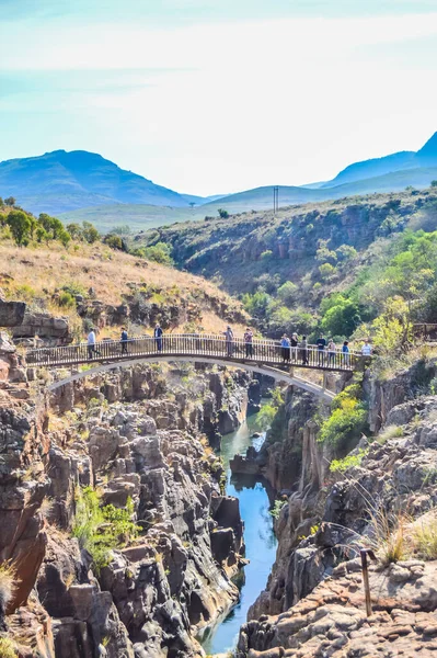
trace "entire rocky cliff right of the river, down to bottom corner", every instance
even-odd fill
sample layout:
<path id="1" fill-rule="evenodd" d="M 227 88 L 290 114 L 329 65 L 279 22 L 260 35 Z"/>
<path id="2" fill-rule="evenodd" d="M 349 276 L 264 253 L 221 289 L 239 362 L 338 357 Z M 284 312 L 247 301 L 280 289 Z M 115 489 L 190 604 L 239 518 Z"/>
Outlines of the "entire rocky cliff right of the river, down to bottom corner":
<path id="1" fill-rule="evenodd" d="M 320 447 L 306 473 L 303 442 L 297 490 L 276 522 L 276 564 L 241 631 L 239 658 L 434 650 L 428 625 L 437 599 L 428 579 L 435 563 L 417 561 L 437 558 L 429 547 L 437 537 L 437 402 L 426 395 L 434 377 L 434 360 L 390 381 L 366 377 L 369 422 L 380 433 L 361 440 L 343 473 L 324 468 L 323 481 L 314 479 Z M 417 538 L 417 527 L 425 527 L 426 542 Z M 369 619 L 354 560 L 361 547 L 378 558 L 370 574 L 376 613 Z"/>

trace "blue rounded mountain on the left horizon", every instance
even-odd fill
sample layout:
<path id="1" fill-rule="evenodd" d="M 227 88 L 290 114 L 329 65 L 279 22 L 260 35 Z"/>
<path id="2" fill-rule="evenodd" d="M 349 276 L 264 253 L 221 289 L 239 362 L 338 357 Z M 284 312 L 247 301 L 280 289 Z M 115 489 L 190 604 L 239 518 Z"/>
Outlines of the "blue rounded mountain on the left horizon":
<path id="1" fill-rule="evenodd" d="M 34 213 L 53 214 L 115 203 L 189 206 L 184 195 L 88 151 L 57 150 L 0 162 L 0 195 L 15 196 Z"/>

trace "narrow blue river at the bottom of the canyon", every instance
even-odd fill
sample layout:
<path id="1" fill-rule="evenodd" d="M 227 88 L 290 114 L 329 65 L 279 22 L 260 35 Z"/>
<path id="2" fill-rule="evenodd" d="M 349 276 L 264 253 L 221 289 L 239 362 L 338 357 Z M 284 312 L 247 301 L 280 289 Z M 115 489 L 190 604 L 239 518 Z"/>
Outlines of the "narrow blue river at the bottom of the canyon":
<path id="1" fill-rule="evenodd" d="M 242 570 L 241 595 L 237 605 L 219 622 L 203 642 L 207 654 L 221 654 L 235 647 L 240 626 L 245 623 L 248 610 L 264 589 L 276 556 L 276 537 L 269 514 L 266 483 L 252 476 L 231 476 L 229 460 L 244 454 L 250 445 L 258 450 L 265 435 L 251 439 L 254 418 L 243 423 L 237 432 L 221 440 L 225 467 L 228 472 L 227 494 L 240 500 L 240 514 L 244 521 L 245 557 L 250 560 Z"/>

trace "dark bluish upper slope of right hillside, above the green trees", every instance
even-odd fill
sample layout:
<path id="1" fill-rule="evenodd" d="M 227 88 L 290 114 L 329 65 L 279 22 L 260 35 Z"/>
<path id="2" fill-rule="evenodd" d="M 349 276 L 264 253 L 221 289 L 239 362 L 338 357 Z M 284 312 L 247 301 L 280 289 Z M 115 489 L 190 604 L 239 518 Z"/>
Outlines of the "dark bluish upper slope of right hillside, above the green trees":
<path id="1" fill-rule="evenodd" d="M 254 292 L 258 277 L 275 287 L 290 280 L 299 287 L 300 302 L 308 306 L 320 302 L 352 273 L 356 275 L 366 264 L 366 250 L 378 245 L 375 240 L 390 240 L 405 226 L 437 227 L 437 190 L 306 204 L 280 208 L 276 217 L 273 212 L 246 213 L 229 219 L 176 224 L 150 231 L 142 239 L 171 243 L 180 266 L 218 277 L 232 294 Z M 335 277 L 327 280 L 320 275 L 321 262 L 315 259 L 319 240 L 330 240 L 330 250 L 345 243 L 354 246 L 358 256 L 348 263 L 337 263 Z M 272 257 L 263 258 L 268 250 Z M 314 283 L 321 285 L 318 291 Z"/>

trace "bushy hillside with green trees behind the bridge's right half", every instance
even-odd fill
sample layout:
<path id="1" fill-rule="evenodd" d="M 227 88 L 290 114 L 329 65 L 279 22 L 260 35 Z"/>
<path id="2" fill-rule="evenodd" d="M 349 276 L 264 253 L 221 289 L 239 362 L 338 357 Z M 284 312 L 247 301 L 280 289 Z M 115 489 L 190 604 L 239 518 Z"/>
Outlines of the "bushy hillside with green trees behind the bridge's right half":
<path id="1" fill-rule="evenodd" d="M 281 208 L 149 231 L 180 268 L 239 295 L 263 331 L 373 336 L 405 345 L 437 322 L 437 188 Z M 388 332 L 386 332 L 388 328 Z"/>

